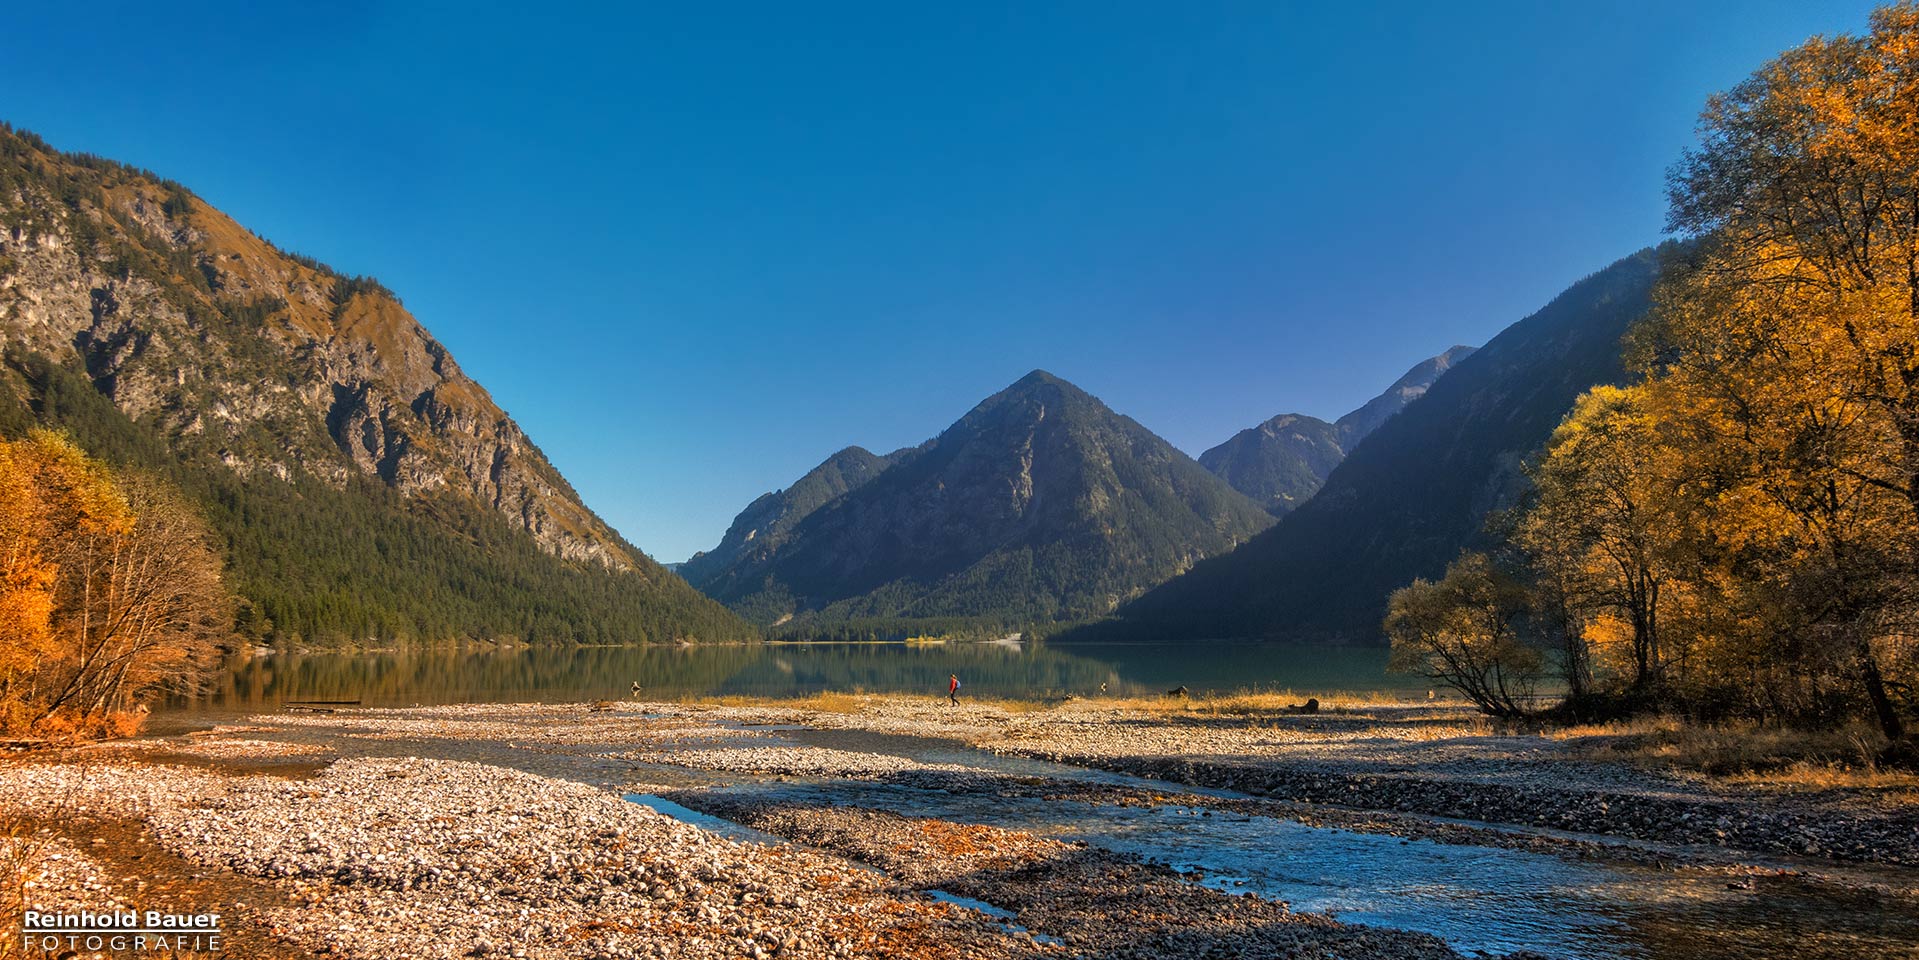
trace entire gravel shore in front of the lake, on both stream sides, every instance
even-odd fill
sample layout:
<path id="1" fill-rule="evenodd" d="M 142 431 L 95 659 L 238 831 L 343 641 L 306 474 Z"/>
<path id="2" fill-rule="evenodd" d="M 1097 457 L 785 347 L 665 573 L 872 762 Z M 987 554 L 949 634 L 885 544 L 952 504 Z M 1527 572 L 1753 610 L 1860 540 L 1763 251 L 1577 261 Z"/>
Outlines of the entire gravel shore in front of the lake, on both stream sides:
<path id="1" fill-rule="evenodd" d="M 29 837 L 61 851 L 56 876 L 144 872 L 121 852 L 134 843 L 127 837 L 144 835 L 173 858 L 173 874 L 263 885 L 234 912 L 251 947 L 230 941 L 234 956 L 263 958 L 514 956 L 507 943 L 522 945 L 524 956 L 1458 956 L 1426 933 L 1291 912 L 1132 854 L 963 818 L 727 787 L 787 780 L 979 803 L 1284 820 L 1685 870 L 1721 876 L 1729 889 L 1790 881 L 1919 897 L 1919 872 L 1909 870 L 1919 862 L 1919 828 L 1907 826 L 1919 820 L 1909 806 L 1875 808 L 1860 795 L 1769 795 L 1545 755 L 1531 749 L 1539 737 L 1458 726 L 1453 707 L 1384 703 L 1247 716 L 1100 701 L 958 710 L 929 697 L 816 701 L 226 716 L 211 730 L 8 756 L 0 760 L 0 816 L 33 824 Z M 1052 768 L 996 772 L 910 756 L 929 745 L 1148 780 L 1061 780 L 1048 776 Z M 629 803 L 628 793 L 652 793 L 789 843 L 773 852 L 737 843 Z M 1554 797 L 1585 806 L 1554 806 Z M 1602 797 L 1610 816 L 1589 816 L 1593 797 Z M 1480 816 L 1455 816 L 1462 810 Z M 1714 816 L 1702 820 L 1708 810 Z M 1721 828 L 1727 818 L 1739 820 L 1737 829 Z M 69 824 L 65 835 L 35 833 L 56 822 Z M 447 824 L 472 828 L 462 839 L 459 829 L 441 829 Z M 629 854 L 620 854 L 629 858 L 606 858 L 606 829 L 635 837 Z M 1823 856 L 1804 856 L 1802 835 Z M 1902 837 L 1907 843 L 1896 843 Z M 19 845 L 0 841 L 0 849 L 6 843 Z M 652 852 L 681 847 L 714 864 L 714 877 L 733 879 L 700 879 L 697 889 L 631 885 L 641 866 L 664 870 Z M 983 851 L 992 856 L 983 860 Z M 535 877 L 530 885 L 512 879 L 526 870 Z M 814 889 L 821 872 L 858 877 L 835 881 L 848 883 L 844 904 L 858 906 L 854 914 L 821 906 L 827 899 Z M 758 887 L 741 887 L 739 877 Z M 140 893 L 121 887 L 54 883 L 50 891 L 67 899 L 38 906 L 102 908 L 102 895 Z M 942 899 L 952 895 L 1006 916 Z M 781 906 L 793 899 L 810 906 Z M 501 904 L 512 910 L 491 912 Z M 476 952 L 478 939 L 439 948 L 457 939 L 468 914 L 489 918 L 484 929 L 497 933 L 484 933 L 491 937 L 484 945 L 497 950 Z M 393 918 L 405 922 L 386 924 Z M 770 931 L 777 935 L 768 939 Z M 848 941 L 848 931 L 858 935 Z M 677 947 L 668 954 L 647 943 Z M 835 952 L 846 943 L 860 947 Z"/>

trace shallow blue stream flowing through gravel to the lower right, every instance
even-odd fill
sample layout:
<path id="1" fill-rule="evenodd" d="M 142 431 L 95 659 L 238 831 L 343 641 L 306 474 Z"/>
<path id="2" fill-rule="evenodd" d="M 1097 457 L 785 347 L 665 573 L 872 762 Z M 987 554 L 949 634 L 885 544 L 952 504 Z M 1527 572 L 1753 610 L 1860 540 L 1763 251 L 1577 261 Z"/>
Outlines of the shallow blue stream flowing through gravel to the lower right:
<path id="1" fill-rule="evenodd" d="M 1169 789 L 1151 780 L 996 756 L 935 739 L 831 730 L 794 730 L 783 732 L 783 737 L 983 772 Z M 1326 912 L 1349 924 L 1433 933 L 1466 956 L 1478 950 L 1533 950 L 1564 960 L 1919 958 L 1919 904 L 1790 876 L 1762 876 L 1742 889 L 1729 883 L 1733 877 L 1706 870 L 1658 870 L 1399 839 L 1228 814 L 1203 804 L 1142 808 L 812 778 L 735 778 L 725 781 L 725 789 L 770 801 L 871 806 L 1086 841 L 1197 872 L 1201 883 L 1224 893 L 1259 893 L 1286 900 L 1293 910 Z M 1234 791 L 1173 789 L 1244 799 Z M 1904 887 L 1915 879 L 1898 870 L 1844 870 L 1856 879 Z"/>

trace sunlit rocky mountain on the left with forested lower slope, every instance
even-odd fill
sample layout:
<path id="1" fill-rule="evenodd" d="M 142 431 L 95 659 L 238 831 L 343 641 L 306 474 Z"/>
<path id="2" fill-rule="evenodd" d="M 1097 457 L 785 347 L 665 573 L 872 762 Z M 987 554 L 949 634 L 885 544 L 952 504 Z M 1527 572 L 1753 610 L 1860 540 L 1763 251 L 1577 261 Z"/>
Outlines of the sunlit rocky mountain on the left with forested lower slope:
<path id="1" fill-rule="evenodd" d="M 192 492 L 272 639 L 737 639 L 390 290 L 0 127 L 0 428 Z"/>

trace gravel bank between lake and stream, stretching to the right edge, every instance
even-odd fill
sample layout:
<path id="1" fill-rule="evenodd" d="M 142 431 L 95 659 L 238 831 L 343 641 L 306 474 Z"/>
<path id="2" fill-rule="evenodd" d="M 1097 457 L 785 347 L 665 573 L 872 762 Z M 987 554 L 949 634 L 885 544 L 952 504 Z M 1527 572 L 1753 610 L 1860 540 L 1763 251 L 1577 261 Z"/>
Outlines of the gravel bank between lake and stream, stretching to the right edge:
<path id="1" fill-rule="evenodd" d="M 1401 814 L 1433 839 L 1433 818 L 1549 828 L 1664 845 L 1838 862 L 1919 866 L 1919 804 L 1875 791 L 1781 793 L 1591 762 L 1537 735 L 1487 735 L 1457 707 L 1374 705 L 1339 714 L 1140 712 L 1100 701 L 1052 710 L 875 699 L 858 712 L 722 708 L 737 722 L 950 737 L 983 751 L 1244 791 L 1328 810 Z M 1316 812 L 1315 812 L 1316 810 Z M 1338 816 L 1338 814 L 1334 814 Z M 1362 818 L 1380 822 L 1376 818 Z M 1424 826 L 1422 826 L 1424 824 Z M 1474 841 L 1476 843 L 1476 841 Z M 1529 841 L 1531 843 L 1531 841 Z"/>

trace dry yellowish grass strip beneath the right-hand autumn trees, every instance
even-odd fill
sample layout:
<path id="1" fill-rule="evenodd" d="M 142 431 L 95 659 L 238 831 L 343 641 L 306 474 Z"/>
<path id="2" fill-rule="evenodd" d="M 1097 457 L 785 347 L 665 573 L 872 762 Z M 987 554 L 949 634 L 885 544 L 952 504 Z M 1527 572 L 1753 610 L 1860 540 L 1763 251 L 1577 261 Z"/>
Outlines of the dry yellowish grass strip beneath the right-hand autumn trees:
<path id="1" fill-rule="evenodd" d="M 1879 789 L 1919 803 L 1919 774 L 1881 770 L 1884 737 L 1871 726 L 1792 730 L 1758 724 L 1698 726 L 1671 716 L 1547 732 L 1574 755 L 1723 778 L 1748 787 Z"/>

